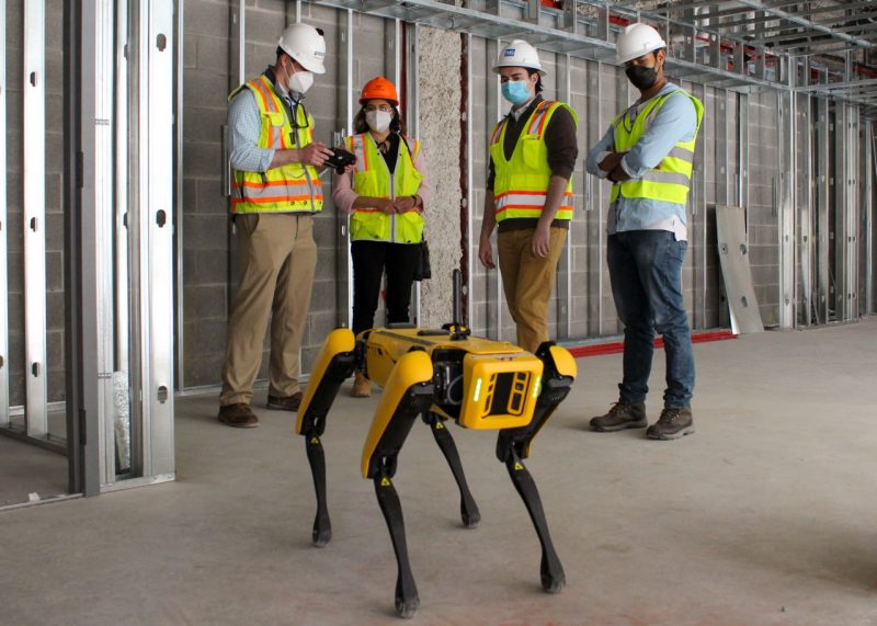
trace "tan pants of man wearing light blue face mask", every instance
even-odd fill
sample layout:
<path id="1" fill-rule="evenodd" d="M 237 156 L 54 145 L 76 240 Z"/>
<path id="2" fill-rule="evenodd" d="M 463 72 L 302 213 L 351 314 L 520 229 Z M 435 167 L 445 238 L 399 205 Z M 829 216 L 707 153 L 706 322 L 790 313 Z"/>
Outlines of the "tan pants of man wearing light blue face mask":
<path id="1" fill-rule="evenodd" d="M 567 240 L 565 228 L 551 228 L 550 251 L 547 258 L 540 259 L 531 250 L 535 231 L 535 228 L 525 228 L 497 236 L 502 288 L 517 329 L 517 345 L 528 352 L 536 352 L 543 341 L 548 341 L 548 299 Z"/>

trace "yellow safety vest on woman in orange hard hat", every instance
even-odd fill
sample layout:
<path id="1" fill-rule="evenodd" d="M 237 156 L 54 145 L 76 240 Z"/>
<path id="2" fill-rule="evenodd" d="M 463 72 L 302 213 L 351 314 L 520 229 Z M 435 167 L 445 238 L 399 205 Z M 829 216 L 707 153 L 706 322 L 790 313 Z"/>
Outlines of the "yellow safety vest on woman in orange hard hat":
<path id="1" fill-rule="evenodd" d="M 401 137 L 392 174 L 369 133 L 344 137 L 344 144 L 348 150 L 356 155 L 353 191 L 358 195 L 396 200 L 418 193 L 420 181 L 423 180 L 414 168 L 420 141 Z M 423 215 L 414 208 L 392 215 L 378 208 L 355 208 L 351 215 L 350 235 L 353 241 L 420 243 L 423 239 Z"/>

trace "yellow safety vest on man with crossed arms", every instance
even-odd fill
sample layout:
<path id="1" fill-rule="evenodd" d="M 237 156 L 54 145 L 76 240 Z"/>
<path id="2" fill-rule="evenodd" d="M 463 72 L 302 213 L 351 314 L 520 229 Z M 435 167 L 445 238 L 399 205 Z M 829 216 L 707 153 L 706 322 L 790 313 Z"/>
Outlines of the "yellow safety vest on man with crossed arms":
<path id="1" fill-rule="evenodd" d="M 704 118 L 704 105 L 701 104 L 701 101 L 686 91 L 677 89 L 660 98 L 652 98 L 642 111 L 637 114 L 635 121 L 630 122 L 628 116 L 630 110 L 628 110 L 617 115 L 612 124 L 615 127 L 615 151 L 626 152 L 639 141 L 646 129 L 651 126 L 652 119 L 654 119 L 663 103 L 667 102 L 667 99 L 680 92 L 691 99 L 697 113 L 697 127 L 694 129 L 694 137 L 692 137 L 691 141 L 675 144 L 670 152 L 661 159 L 661 162 L 642 174 L 642 178 L 615 183 L 612 186 L 610 202 L 618 200 L 618 194 L 624 197 L 643 197 L 682 205 L 687 201 L 694 163 L 694 147 L 697 140 L 697 130 L 701 128 L 701 122 Z"/>

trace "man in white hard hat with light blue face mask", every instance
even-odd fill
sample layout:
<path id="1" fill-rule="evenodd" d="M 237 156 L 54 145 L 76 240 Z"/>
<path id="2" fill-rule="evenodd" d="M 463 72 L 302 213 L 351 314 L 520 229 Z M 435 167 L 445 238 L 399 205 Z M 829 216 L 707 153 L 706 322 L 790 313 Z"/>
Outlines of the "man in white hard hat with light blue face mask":
<path id="1" fill-rule="evenodd" d="M 548 299 L 572 219 L 578 117 L 568 104 L 543 99 L 545 70 L 528 43 L 504 46 L 493 71 L 512 109 L 490 139 L 478 258 L 496 268 L 490 236 L 499 225 L 497 251 L 517 344 L 536 352 L 548 340 Z"/>

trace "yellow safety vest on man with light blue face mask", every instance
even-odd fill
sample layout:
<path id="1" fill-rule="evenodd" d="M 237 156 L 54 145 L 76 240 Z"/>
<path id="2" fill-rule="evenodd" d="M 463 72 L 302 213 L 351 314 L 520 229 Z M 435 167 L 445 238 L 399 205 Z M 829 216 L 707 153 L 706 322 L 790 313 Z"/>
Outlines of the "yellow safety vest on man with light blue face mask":
<path id="1" fill-rule="evenodd" d="M 517 138 L 512 158 L 505 159 L 505 128 L 508 117 L 497 124 L 490 138 L 490 156 L 493 159 L 493 201 L 497 206 L 497 223 L 516 217 L 542 216 L 551 168 L 548 166 L 548 148 L 545 145 L 545 128 L 555 112 L 565 106 L 578 125 L 576 112 L 562 102 L 540 101 L 533 110 L 524 130 Z M 563 202 L 555 219 L 572 219 L 572 177 L 567 182 Z"/>

